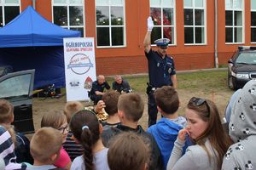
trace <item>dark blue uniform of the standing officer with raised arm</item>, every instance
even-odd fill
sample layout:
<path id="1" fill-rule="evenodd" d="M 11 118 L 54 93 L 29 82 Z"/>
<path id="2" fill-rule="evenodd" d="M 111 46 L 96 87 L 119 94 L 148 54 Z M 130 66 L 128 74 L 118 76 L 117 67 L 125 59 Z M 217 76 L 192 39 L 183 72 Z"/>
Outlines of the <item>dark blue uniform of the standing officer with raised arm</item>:
<path id="1" fill-rule="evenodd" d="M 148 54 L 148 127 L 154 125 L 157 119 L 157 107 L 154 100 L 154 90 L 162 86 L 172 86 L 171 76 L 176 74 L 174 62 L 171 56 L 166 55 L 164 59 L 156 51 L 150 49 Z"/>

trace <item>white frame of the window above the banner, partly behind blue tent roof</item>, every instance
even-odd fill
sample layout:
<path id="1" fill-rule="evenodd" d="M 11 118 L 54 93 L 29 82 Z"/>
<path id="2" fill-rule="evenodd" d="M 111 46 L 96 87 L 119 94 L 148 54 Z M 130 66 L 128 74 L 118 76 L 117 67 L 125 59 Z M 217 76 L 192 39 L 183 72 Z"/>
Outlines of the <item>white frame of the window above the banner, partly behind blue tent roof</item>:
<path id="1" fill-rule="evenodd" d="M 51 12 L 52 12 L 52 23 L 55 24 L 54 20 L 54 7 L 67 7 L 67 26 L 61 26 L 62 28 L 67 28 L 68 30 L 71 30 L 70 28 L 83 28 L 84 30 L 84 35 L 85 36 L 85 14 L 84 14 L 84 8 L 85 8 L 85 3 L 84 0 L 82 0 L 82 3 L 70 3 L 71 0 L 66 0 L 67 3 L 55 3 L 55 0 L 51 0 Z M 69 7 L 77 7 L 77 6 L 82 6 L 83 8 L 83 25 L 82 26 L 70 26 L 70 16 L 69 16 Z M 55 24 L 56 25 L 56 24 Z"/>

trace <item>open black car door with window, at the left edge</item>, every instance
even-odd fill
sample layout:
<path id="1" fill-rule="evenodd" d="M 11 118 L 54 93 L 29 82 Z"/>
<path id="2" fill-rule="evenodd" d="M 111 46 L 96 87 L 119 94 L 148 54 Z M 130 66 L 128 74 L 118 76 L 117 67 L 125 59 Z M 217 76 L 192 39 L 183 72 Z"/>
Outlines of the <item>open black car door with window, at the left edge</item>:
<path id="1" fill-rule="evenodd" d="M 32 90 L 35 70 L 17 71 L 0 77 L 0 99 L 15 107 L 16 132 L 33 133 Z"/>

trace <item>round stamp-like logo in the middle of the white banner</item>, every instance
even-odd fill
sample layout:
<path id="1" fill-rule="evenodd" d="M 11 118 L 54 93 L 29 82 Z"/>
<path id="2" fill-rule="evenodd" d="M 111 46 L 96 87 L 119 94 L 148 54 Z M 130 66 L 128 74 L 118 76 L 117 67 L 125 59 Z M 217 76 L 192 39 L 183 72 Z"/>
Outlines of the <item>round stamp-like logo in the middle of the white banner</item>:
<path id="1" fill-rule="evenodd" d="M 90 58 L 85 54 L 75 54 L 69 61 L 67 69 L 71 69 L 73 73 L 83 75 L 90 71 L 93 64 L 90 62 Z"/>

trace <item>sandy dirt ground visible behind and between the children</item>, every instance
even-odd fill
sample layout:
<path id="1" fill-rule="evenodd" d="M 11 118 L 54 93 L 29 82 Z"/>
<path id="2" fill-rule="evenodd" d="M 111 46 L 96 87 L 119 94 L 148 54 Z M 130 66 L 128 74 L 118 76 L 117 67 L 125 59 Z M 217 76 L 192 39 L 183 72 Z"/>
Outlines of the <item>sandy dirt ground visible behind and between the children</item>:
<path id="1" fill-rule="evenodd" d="M 200 92 L 200 91 L 189 91 L 189 90 L 177 90 L 179 99 L 181 101 L 181 106 L 178 110 L 178 113 L 180 115 L 184 114 L 184 108 L 189 99 L 193 96 L 195 97 L 201 97 L 205 99 L 211 99 L 215 102 L 215 104 L 218 107 L 218 111 L 221 117 L 224 116 L 224 110 L 225 107 L 230 99 L 230 96 L 233 92 L 226 91 L 226 92 Z M 143 117 L 140 120 L 139 124 L 143 126 L 143 128 L 147 129 L 148 124 L 148 98 L 147 94 L 140 93 L 140 95 L 143 97 L 144 100 L 144 113 Z M 33 121 L 35 129 L 38 129 L 40 127 L 40 122 L 42 117 L 45 113 L 52 111 L 52 110 L 63 110 L 64 105 L 66 103 L 66 95 L 62 96 L 60 99 L 40 99 L 40 98 L 34 98 L 33 99 Z M 84 105 L 88 105 L 88 102 L 83 102 Z M 160 118 L 160 114 L 158 116 Z"/>

